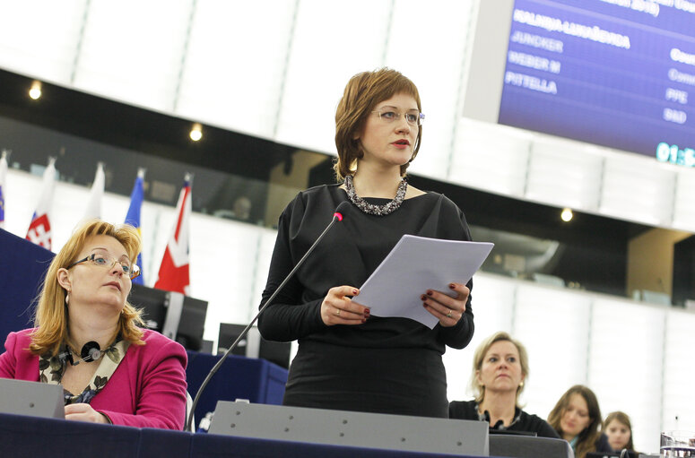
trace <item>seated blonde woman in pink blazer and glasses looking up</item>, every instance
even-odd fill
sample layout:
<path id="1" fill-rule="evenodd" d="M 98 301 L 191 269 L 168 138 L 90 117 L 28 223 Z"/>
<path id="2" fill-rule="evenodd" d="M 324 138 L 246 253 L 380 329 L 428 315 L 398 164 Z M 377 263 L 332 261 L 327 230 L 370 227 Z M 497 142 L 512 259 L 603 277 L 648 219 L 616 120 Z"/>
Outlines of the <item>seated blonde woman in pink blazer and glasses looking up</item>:
<path id="1" fill-rule="evenodd" d="M 48 267 L 33 329 L 10 333 L 0 377 L 63 385 L 65 419 L 183 429 L 186 350 L 126 302 L 140 236 L 91 220 Z"/>

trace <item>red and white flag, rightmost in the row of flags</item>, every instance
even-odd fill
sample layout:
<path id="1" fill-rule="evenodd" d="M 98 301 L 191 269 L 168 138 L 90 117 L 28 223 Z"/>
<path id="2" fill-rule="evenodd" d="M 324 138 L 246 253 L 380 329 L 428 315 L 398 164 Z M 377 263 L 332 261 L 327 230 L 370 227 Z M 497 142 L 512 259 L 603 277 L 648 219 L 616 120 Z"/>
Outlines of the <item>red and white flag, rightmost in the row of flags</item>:
<path id="1" fill-rule="evenodd" d="M 178 194 L 176 206 L 177 220 L 171 231 L 157 282 L 154 288 L 176 291 L 190 296 L 190 280 L 188 276 L 188 240 L 191 218 L 191 181 L 190 174 L 184 178 L 181 194 Z"/>

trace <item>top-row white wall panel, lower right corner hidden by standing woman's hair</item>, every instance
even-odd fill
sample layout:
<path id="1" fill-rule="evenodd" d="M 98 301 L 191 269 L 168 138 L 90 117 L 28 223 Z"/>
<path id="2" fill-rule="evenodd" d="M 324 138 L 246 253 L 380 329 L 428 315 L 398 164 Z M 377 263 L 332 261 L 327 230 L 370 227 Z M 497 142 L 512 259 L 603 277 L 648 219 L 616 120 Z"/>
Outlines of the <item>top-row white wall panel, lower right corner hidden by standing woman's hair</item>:
<path id="1" fill-rule="evenodd" d="M 300 2 L 276 141 L 335 151 L 335 108 L 353 74 L 383 65 L 390 5 Z"/>

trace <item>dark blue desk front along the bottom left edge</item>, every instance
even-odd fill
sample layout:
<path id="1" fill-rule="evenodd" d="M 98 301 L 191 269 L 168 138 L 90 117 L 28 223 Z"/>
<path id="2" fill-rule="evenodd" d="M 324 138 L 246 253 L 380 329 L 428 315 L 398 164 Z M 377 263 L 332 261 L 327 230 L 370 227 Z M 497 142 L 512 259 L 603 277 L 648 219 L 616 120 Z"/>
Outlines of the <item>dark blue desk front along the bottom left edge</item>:
<path id="1" fill-rule="evenodd" d="M 0 456 L 33 458 L 444 458 L 451 455 L 317 445 L 0 413 Z M 473 458 L 473 457 L 470 457 Z"/>

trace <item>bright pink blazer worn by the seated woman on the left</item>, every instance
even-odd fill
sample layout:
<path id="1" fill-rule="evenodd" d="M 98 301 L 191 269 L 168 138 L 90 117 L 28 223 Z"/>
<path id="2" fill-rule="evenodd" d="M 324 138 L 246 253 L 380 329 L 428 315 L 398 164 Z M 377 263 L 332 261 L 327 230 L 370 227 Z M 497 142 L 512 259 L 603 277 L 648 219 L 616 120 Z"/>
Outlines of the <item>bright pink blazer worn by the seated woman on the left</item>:
<path id="1" fill-rule="evenodd" d="M 0 355 L 0 377 L 39 381 L 39 356 L 29 350 L 32 330 L 10 333 Z M 186 350 L 144 330 L 144 345 L 131 344 L 126 356 L 91 407 L 115 425 L 182 430 L 186 417 Z"/>

